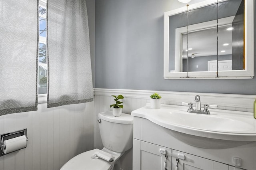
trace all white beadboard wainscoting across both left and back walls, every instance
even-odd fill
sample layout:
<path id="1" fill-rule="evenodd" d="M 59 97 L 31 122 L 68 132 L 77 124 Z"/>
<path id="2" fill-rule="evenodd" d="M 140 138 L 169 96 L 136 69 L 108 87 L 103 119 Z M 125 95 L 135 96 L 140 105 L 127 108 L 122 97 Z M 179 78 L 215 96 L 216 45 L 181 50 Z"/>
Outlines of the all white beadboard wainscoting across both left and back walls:
<path id="1" fill-rule="evenodd" d="M 97 115 L 112 110 L 109 108 L 114 102 L 111 95 L 124 95 L 123 113 L 130 114 L 150 102 L 149 96 L 154 92 L 162 96 L 164 104 L 193 102 L 194 96 L 200 95 L 202 104 L 248 112 L 253 111 L 255 99 L 253 95 L 95 89 L 94 102 L 47 109 L 46 100 L 40 98 L 38 111 L 0 116 L 0 134 L 27 128 L 29 138 L 27 148 L 0 157 L 0 170 L 59 170 L 75 155 L 103 147 Z M 132 170 L 132 150 L 120 162 L 122 169 Z"/>

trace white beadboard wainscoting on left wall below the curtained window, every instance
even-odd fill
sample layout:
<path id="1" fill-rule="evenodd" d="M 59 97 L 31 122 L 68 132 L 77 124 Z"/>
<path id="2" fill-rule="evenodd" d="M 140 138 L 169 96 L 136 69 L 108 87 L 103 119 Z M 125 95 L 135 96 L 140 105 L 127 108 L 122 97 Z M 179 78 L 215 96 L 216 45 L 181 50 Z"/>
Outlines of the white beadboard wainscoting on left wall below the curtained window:
<path id="1" fill-rule="evenodd" d="M 27 147 L 0 157 L 0 170 L 59 170 L 94 148 L 94 102 L 0 116 L 0 134 L 27 128 Z"/>

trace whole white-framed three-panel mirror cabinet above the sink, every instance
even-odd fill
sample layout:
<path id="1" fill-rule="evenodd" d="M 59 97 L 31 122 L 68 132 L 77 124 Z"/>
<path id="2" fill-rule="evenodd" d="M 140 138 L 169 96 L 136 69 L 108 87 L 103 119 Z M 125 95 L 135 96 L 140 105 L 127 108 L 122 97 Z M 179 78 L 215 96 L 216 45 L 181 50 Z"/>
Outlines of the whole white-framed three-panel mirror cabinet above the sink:
<path id="1" fill-rule="evenodd" d="M 252 78 L 253 45 L 253 0 L 205 0 L 165 12 L 164 78 Z"/>

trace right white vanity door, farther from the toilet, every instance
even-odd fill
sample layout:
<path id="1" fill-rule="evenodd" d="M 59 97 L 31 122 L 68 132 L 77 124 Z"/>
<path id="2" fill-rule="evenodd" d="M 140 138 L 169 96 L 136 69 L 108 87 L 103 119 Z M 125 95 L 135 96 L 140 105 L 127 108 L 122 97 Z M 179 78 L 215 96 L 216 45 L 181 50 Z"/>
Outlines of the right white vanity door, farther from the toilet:
<path id="1" fill-rule="evenodd" d="M 185 159 L 179 159 L 178 170 L 228 170 L 228 165 L 214 162 L 206 158 L 172 150 L 172 169 L 176 170 L 176 158 L 178 154 L 184 155 Z"/>

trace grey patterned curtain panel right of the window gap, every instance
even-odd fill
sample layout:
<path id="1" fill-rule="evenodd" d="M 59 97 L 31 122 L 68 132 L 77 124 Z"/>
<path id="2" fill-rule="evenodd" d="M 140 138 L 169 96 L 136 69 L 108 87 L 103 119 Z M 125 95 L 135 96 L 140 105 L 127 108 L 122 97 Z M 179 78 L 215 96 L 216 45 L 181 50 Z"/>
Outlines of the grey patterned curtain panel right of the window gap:
<path id="1" fill-rule="evenodd" d="M 48 0 L 47 107 L 93 101 L 85 0 Z"/>

